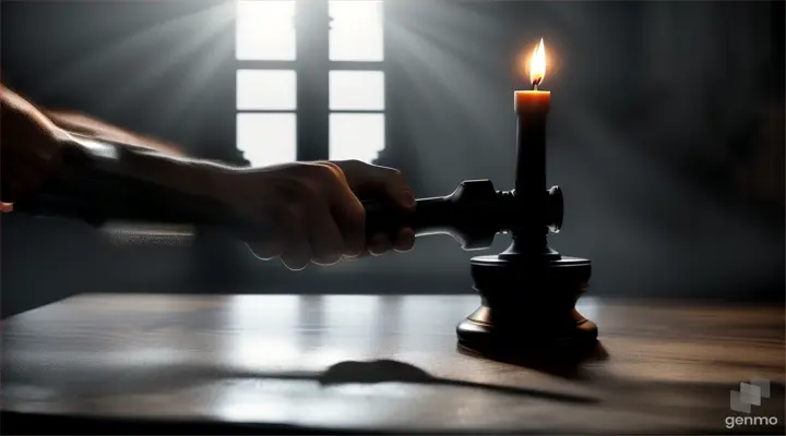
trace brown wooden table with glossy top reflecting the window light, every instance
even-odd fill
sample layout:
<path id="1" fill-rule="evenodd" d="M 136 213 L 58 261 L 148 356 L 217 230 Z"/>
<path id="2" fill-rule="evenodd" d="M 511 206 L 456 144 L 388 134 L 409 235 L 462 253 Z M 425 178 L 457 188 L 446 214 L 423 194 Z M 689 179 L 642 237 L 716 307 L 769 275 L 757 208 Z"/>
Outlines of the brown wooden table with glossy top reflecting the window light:
<path id="1" fill-rule="evenodd" d="M 180 429 L 202 422 L 199 434 L 784 433 L 779 304 L 584 298 L 605 356 L 599 348 L 582 362 L 525 366 L 456 350 L 455 325 L 477 304 L 472 295 L 79 295 L 4 323 L 2 431 L 40 432 L 48 415 L 56 433 L 96 417 Z M 390 361 L 332 366 L 374 360 Z M 771 380 L 770 398 L 750 415 L 733 412 L 730 391 L 754 376 Z M 728 429 L 727 416 L 777 424 Z M 143 433 L 93 432 L 118 428 Z"/>

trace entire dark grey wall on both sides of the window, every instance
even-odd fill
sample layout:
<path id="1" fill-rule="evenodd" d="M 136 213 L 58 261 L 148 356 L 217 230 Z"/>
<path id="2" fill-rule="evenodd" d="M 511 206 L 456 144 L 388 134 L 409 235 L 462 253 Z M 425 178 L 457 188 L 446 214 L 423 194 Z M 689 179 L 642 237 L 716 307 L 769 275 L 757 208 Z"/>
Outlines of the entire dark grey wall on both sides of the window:
<path id="1" fill-rule="evenodd" d="M 234 8 L 221 3 L 3 1 L 2 80 L 237 161 Z M 552 245 L 594 262 L 590 293 L 783 299 L 784 2 L 386 0 L 385 23 L 379 162 L 417 196 L 467 179 L 512 187 L 516 59 L 544 37 L 549 183 L 567 196 Z M 448 237 L 290 272 L 206 231 L 119 245 L 81 223 L 1 223 L 4 315 L 76 292 L 473 292 L 476 253 Z"/>

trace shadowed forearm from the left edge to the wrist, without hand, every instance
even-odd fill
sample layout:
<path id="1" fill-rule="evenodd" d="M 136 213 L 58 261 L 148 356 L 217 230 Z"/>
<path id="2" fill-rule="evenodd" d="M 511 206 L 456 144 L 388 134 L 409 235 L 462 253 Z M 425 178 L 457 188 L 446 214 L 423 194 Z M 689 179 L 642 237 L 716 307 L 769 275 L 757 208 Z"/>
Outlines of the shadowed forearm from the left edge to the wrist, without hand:
<path id="1" fill-rule="evenodd" d="M 224 208 L 234 168 L 175 156 L 98 123 L 57 125 L 4 87 L 0 113 L 2 201 L 14 210 L 196 223 L 226 211 L 216 209 Z"/>

